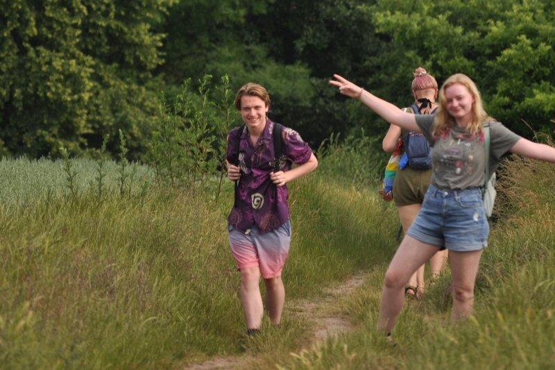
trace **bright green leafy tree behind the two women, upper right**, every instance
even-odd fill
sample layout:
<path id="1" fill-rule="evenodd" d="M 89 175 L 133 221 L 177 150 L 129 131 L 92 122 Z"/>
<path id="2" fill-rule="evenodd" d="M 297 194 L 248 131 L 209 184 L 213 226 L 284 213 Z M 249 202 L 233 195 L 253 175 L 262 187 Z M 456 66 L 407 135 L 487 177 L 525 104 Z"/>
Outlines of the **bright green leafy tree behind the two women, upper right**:
<path id="1" fill-rule="evenodd" d="M 535 131 L 553 132 L 554 3 L 380 0 L 361 10 L 391 37 L 391 47 L 367 64 L 380 71 L 368 86 L 382 96 L 399 102 L 395 86 L 409 91 L 418 65 L 438 83 L 461 72 L 477 83 L 488 113 L 513 131 L 529 136 L 524 120 Z"/>

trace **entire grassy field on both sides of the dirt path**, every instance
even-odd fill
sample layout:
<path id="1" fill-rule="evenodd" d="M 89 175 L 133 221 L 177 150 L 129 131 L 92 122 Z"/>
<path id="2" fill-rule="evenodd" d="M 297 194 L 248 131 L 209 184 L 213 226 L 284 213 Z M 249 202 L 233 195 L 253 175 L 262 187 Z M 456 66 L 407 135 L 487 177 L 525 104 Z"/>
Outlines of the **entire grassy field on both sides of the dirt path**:
<path id="1" fill-rule="evenodd" d="M 356 149 L 356 148 L 355 148 Z M 341 160 L 343 158 L 343 160 Z M 309 323 L 284 312 L 248 340 L 225 216 L 232 186 L 152 185 L 136 166 L 0 162 L 0 368 L 179 369 L 215 355 L 249 355 L 260 369 L 545 369 L 555 363 L 555 167 L 514 160 L 499 180 L 497 219 L 482 258 L 475 316 L 447 324 L 449 271 L 407 303 L 390 346 L 375 330 L 379 290 L 398 219 L 377 196 L 367 153 L 336 147 L 291 184 L 287 299 L 318 297 L 357 271 L 364 285 L 336 308 L 354 332 L 310 346 Z M 131 169 L 129 169 L 130 171 Z"/>

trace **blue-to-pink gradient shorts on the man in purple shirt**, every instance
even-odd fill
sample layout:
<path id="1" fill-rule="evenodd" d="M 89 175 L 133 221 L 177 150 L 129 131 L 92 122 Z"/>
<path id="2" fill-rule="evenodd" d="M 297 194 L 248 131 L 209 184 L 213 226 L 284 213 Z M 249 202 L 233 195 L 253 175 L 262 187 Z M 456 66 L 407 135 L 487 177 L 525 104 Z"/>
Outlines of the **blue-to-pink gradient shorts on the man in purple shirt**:
<path id="1" fill-rule="evenodd" d="M 247 233 L 235 230 L 231 226 L 228 226 L 228 230 L 230 249 L 238 270 L 257 266 L 265 279 L 282 274 L 291 244 L 289 221 L 264 234 L 260 233 L 256 226 Z"/>

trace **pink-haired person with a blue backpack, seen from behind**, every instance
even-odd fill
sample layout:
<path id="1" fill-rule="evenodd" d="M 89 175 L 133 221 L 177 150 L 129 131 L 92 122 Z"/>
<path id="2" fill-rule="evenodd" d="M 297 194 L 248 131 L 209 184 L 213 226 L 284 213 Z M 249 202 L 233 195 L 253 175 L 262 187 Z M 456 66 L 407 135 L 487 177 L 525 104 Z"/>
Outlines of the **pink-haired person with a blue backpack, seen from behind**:
<path id="1" fill-rule="evenodd" d="M 434 114 L 438 108 L 436 104 L 438 94 L 436 79 L 422 67 L 418 67 L 413 76 L 411 90 L 414 104 L 403 110 L 414 115 Z M 399 212 L 402 230 L 407 233 L 414 218 L 418 215 L 418 211 L 420 211 L 424 194 L 426 194 L 432 176 L 432 148 L 421 133 L 404 130 L 400 126 L 390 124 L 382 141 L 382 148 L 386 152 L 393 152 L 399 146 L 402 149 L 398 153 L 400 160 L 398 170 L 395 171 L 391 194 Z M 385 192 L 385 194 L 387 193 Z M 384 197 L 384 199 L 391 199 L 391 197 Z M 439 276 L 445 260 L 447 260 L 447 249 L 438 251 L 429 259 L 432 281 Z M 422 264 L 411 276 L 409 283 L 404 287 L 404 294 L 407 297 L 420 298 L 424 294 L 424 272 L 425 265 Z"/>

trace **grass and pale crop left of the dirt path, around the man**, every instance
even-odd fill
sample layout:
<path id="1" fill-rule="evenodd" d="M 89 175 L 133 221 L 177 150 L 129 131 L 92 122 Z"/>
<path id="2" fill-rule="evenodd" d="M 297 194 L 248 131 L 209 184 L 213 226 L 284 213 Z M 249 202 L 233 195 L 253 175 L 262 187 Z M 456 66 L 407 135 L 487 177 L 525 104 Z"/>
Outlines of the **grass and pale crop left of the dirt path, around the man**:
<path id="1" fill-rule="evenodd" d="M 137 196 L 121 196 L 120 165 L 105 162 L 99 201 L 98 163 L 72 160 L 74 199 L 64 165 L 0 162 L 0 367 L 159 369 L 246 350 L 279 358 L 308 339 L 288 314 L 280 331 L 265 322 L 257 340 L 244 336 L 225 228 L 230 182 L 219 202 L 211 189 L 142 192 L 138 179 L 152 175 L 137 167 Z M 373 201 L 317 176 L 291 185 L 288 299 L 388 255 L 386 233 L 368 224 L 394 214 L 370 212 Z"/>

